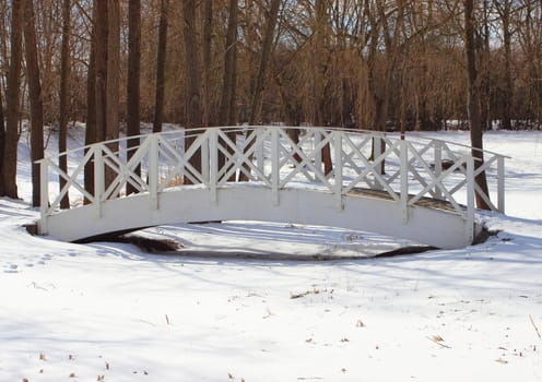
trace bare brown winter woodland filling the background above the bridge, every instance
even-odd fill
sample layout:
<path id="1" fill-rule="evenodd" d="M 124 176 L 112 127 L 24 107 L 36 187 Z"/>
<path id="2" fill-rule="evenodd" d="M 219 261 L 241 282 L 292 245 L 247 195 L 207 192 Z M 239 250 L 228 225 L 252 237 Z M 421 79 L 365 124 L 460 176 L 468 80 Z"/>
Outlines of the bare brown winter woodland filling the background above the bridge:
<path id="1" fill-rule="evenodd" d="M 542 4 L 2 1 L 0 114 L 0 194 L 11 198 L 22 120 L 32 121 L 33 160 L 44 126 L 63 151 L 72 121 L 86 123 L 93 143 L 136 135 L 141 121 L 154 131 L 163 122 L 405 131 L 455 120 L 481 147 L 494 121 L 540 129 Z"/>

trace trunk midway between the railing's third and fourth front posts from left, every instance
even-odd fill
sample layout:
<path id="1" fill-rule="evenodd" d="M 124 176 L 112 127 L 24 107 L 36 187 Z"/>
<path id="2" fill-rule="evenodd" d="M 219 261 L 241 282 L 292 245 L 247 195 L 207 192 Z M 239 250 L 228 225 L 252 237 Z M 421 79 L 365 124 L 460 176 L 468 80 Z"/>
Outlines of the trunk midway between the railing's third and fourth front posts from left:
<path id="1" fill-rule="evenodd" d="M 196 0 L 182 0 L 185 37 L 185 82 L 186 82 L 186 133 L 193 134 L 190 130 L 201 128 L 201 104 L 200 104 L 200 69 L 198 62 L 198 43 L 196 28 Z M 196 140 L 189 136 L 186 148 Z M 190 158 L 190 164 L 196 170 L 201 171 L 201 151 L 198 150 Z M 189 182 L 185 179 L 185 182 Z"/>

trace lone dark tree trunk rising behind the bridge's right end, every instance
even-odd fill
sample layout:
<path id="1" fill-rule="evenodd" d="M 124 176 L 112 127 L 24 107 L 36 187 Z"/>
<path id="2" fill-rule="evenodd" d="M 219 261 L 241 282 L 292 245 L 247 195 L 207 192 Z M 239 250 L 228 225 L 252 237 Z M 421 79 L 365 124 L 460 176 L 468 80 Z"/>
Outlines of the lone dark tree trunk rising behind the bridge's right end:
<path id="1" fill-rule="evenodd" d="M 475 40 L 474 40 L 474 4 L 473 0 L 463 0 L 464 4 L 464 49 L 467 57 L 467 79 L 468 79 L 468 112 L 470 123 L 470 135 L 472 145 L 472 156 L 475 158 L 474 168 L 484 164 L 483 136 L 480 114 L 480 93 L 476 70 Z M 485 171 L 475 177 L 475 182 L 480 186 L 482 192 L 487 196 L 487 180 Z M 490 206 L 476 192 L 476 206 L 481 210 L 490 210 Z"/>

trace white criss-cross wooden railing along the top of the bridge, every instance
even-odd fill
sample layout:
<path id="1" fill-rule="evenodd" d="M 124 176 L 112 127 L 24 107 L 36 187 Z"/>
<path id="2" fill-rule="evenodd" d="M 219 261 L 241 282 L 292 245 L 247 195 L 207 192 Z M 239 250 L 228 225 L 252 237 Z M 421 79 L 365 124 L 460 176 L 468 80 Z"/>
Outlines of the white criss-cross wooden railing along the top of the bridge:
<path id="1" fill-rule="evenodd" d="M 139 141 L 133 148 L 128 140 Z M 68 156 L 68 172 L 60 169 Z M 328 163 L 328 166 L 325 163 Z M 329 166 L 331 164 L 331 167 Z M 470 147 L 435 139 L 401 140 L 367 131 L 326 128 L 234 127 L 175 130 L 96 143 L 40 160 L 42 225 L 60 210 L 70 194 L 71 207 L 83 204 L 102 214 L 106 201 L 149 194 L 158 208 L 160 194 L 182 187 L 198 187 L 215 202 L 224 187 L 260 186 L 271 190 L 273 203 L 291 187 L 329 192 L 343 207 L 344 195 L 372 191 L 400 203 L 403 218 L 423 200 L 447 202 L 467 222 L 474 219 L 474 194 L 494 211 L 504 212 L 505 157 L 485 152 L 476 166 Z M 84 172 L 93 188 L 85 189 Z M 89 170 L 90 169 L 90 170 Z M 474 182 L 486 171 L 492 195 Z M 60 177 L 63 187 L 50 184 Z M 240 182 L 239 180 L 243 180 Z M 493 201 L 497 201 L 496 204 Z"/>

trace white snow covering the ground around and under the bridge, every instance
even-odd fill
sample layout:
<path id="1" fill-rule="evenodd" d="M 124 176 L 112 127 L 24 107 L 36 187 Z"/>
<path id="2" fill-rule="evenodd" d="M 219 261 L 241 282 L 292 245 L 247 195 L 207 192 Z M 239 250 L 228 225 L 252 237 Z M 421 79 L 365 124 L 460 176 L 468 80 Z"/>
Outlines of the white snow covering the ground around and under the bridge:
<path id="1" fill-rule="evenodd" d="M 24 201 L 0 199 L 0 381 L 540 381 L 542 133 L 491 132 L 485 144 L 511 156 L 508 215 L 480 215 L 498 231 L 488 241 L 318 262 L 258 254 L 398 242 L 295 222 L 142 234 L 249 259 L 32 237 L 22 141 Z"/>

